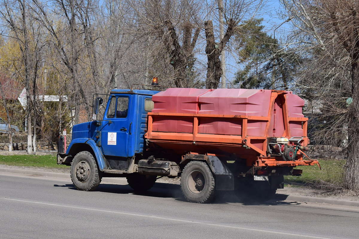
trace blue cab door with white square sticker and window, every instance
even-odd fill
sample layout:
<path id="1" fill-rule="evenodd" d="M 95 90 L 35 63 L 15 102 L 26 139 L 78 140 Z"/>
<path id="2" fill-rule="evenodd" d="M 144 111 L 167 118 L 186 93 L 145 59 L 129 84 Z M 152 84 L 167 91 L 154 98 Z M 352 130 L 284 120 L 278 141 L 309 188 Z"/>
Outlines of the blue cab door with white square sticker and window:
<path id="1" fill-rule="evenodd" d="M 113 96 L 109 102 L 101 130 L 101 148 L 105 156 L 128 157 L 130 104 L 130 95 Z"/>

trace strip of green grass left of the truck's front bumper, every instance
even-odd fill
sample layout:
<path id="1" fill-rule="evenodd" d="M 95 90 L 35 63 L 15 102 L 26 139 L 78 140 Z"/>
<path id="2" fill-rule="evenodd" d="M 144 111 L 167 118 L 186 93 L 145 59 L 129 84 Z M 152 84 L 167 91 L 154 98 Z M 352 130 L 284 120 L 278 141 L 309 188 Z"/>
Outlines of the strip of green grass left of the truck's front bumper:
<path id="1" fill-rule="evenodd" d="M 0 155 L 0 164 L 26 167 L 64 168 L 58 165 L 56 155 Z"/>

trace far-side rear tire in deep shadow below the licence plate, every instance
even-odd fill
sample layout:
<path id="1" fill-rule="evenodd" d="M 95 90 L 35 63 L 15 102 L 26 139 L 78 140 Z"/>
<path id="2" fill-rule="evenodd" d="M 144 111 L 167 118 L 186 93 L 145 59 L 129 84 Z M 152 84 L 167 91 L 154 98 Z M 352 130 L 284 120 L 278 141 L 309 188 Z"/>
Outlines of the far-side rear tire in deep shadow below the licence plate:
<path id="1" fill-rule="evenodd" d="M 272 199 L 277 191 L 268 181 L 255 181 L 251 176 L 238 178 L 235 192 L 244 203 L 260 203 Z"/>

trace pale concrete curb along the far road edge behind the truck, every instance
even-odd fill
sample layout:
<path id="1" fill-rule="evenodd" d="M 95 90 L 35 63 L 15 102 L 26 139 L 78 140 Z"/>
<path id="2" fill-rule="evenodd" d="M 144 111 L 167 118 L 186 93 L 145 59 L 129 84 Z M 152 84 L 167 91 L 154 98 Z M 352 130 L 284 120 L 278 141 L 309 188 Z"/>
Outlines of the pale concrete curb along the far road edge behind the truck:
<path id="1" fill-rule="evenodd" d="M 0 167 L 0 172 L 71 179 L 70 175 L 65 174 L 65 173 L 42 172 L 42 171 L 25 170 L 25 169 L 13 169 L 13 168 L 1 168 Z M 127 184 L 126 178 L 103 178 L 102 182 L 118 183 L 118 184 L 122 184 L 122 185 Z M 342 206 L 359 207 L 359 201 L 328 199 L 328 198 L 323 198 L 323 197 L 309 197 L 309 196 L 286 195 L 286 194 L 277 193 L 275 196 L 275 199 L 276 200 L 325 203 L 325 204 L 335 204 L 335 205 L 342 205 Z"/>

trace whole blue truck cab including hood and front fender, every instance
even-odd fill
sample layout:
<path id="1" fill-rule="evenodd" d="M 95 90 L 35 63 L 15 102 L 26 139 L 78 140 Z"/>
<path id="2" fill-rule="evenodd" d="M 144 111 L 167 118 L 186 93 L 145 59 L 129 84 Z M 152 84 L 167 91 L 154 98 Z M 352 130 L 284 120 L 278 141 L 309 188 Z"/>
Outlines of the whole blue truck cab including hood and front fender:
<path id="1" fill-rule="evenodd" d="M 123 161 L 143 153 L 147 113 L 157 92 L 112 90 L 103 119 L 74 125 L 71 143 L 66 153 L 59 153 L 58 163 L 70 165 L 77 153 L 87 150 L 94 154 L 100 171 L 126 170 Z"/>

